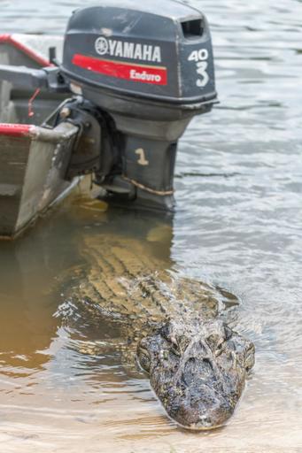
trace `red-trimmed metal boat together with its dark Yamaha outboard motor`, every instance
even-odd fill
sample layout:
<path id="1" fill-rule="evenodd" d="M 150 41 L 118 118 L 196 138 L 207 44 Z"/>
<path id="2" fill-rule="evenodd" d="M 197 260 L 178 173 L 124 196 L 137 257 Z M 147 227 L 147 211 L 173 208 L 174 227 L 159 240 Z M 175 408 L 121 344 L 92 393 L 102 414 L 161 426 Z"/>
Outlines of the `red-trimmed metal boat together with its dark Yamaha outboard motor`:
<path id="1" fill-rule="evenodd" d="M 211 34 L 186 4 L 136 6 L 75 10 L 64 37 L 0 35 L 0 237 L 85 174 L 112 203 L 174 210 L 178 140 L 218 102 Z"/>

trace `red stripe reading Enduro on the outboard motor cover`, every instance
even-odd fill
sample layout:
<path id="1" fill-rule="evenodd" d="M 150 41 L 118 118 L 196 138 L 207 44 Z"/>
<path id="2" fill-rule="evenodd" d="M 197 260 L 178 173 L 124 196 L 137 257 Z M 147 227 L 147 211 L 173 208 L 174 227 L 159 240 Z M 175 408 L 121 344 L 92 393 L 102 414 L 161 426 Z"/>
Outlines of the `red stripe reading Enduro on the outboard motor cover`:
<path id="1" fill-rule="evenodd" d="M 101 73 L 127 81 L 151 83 L 154 85 L 166 85 L 167 81 L 166 68 L 164 67 L 131 65 L 81 54 L 74 55 L 73 64 L 93 73 Z"/>

